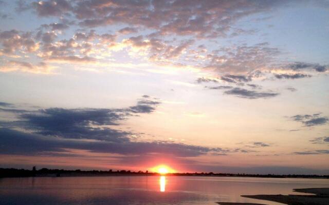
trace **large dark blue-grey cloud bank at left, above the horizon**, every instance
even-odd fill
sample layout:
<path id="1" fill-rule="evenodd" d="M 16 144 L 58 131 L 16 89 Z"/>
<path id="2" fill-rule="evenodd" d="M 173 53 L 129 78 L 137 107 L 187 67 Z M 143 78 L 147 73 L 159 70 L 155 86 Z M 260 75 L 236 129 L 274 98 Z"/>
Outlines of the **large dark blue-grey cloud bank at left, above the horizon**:
<path id="1" fill-rule="evenodd" d="M 121 109 L 0 109 L 0 114 L 11 112 L 16 116 L 14 120 L 10 118 L 0 121 L 0 153 L 51 155 L 56 152 L 54 155 L 58 155 L 65 152 L 65 149 L 78 149 L 123 155 L 166 154 L 192 157 L 254 152 L 248 149 L 209 148 L 172 141 L 137 141 L 131 136 L 140 134 L 116 128 L 122 121 L 136 117 L 137 113 L 154 112 L 159 104 L 156 98 L 143 95 L 136 106 Z M 5 116 L 7 115 L 2 118 L 6 119 Z"/>

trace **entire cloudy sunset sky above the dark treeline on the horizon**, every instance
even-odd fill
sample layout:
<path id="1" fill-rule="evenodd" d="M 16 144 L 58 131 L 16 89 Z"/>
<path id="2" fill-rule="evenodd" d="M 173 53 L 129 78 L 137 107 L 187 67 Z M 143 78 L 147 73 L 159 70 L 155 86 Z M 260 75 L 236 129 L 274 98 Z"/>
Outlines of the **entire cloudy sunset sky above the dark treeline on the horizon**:
<path id="1" fill-rule="evenodd" d="M 329 174 L 329 1 L 0 1 L 0 165 Z"/>

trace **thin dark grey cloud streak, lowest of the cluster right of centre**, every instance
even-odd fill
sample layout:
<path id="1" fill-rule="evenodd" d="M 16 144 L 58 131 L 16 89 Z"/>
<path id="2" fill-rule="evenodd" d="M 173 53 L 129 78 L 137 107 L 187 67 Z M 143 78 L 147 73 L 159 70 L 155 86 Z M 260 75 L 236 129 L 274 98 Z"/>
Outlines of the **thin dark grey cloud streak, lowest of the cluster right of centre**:
<path id="1" fill-rule="evenodd" d="M 234 95 L 241 98 L 258 99 L 258 98 L 270 98 L 279 95 L 279 93 L 273 92 L 257 92 L 252 90 L 246 90 L 243 88 L 233 88 L 224 92 L 227 95 Z"/>

